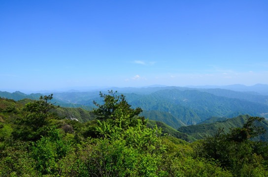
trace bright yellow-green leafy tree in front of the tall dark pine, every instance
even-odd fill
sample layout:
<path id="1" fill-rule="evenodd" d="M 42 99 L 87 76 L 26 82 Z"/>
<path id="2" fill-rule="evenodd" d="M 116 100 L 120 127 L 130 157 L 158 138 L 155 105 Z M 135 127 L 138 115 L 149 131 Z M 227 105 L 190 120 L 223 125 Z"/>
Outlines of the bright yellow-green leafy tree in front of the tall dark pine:
<path id="1" fill-rule="evenodd" d="M 142 125 L 123 129 L 100 122 L 103 138 L 90 138 L 64 160 L 65 176 L 157 177 L 165 150 L 158 135 L 161 130 Z M 72 160 L 71 162 L 69 162 Z M 68 162 L 67 162 L 68 161 Z M 71 167 L 70 167 L 71 166 Z"/>

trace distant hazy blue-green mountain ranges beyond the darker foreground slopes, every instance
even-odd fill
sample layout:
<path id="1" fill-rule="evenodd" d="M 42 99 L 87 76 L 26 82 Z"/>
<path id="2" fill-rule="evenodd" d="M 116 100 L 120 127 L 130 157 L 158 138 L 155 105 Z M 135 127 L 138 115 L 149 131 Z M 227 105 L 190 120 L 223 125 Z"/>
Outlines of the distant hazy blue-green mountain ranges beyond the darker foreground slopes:
<path id="1" fill-rule="evenodd" d="M 268 97 L 256 92 L 237 92 L 226 89 L 190 89 L 179 87 L 120 89 L 132 108 L 140 107 L 140 116 L 165 122 L 177 129 L 183 125 L 198 124 L 210 117 L 233 118 L 239 115 L 268 117 Z M 122 94 L 117 93 L 117 94 Z M 107 93 L 104 91 L 103 93 Z M 35 96 L 34 96 L 35 95 Z M 15 100 L 40 94 L 0 92 L 0 96 Z M 98 91 L 55 93 L 54 102 L 64 107 L 96 108 L 101 103 Z"/>

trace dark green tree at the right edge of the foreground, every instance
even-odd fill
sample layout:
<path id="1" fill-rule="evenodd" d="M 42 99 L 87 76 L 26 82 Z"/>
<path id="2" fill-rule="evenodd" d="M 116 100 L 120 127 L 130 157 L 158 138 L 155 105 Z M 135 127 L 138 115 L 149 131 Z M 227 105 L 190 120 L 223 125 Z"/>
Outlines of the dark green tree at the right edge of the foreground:
<path id="1" fill-rule="evenodd" d="M 260 149 L 260 143 L 250 140 L 265 132 L 254 124 L 263 119 L 250 117 L 242 128 L 232 128 L 227 134 L 222 134 L 223 129 L 219 129 L 215 136 L 206 138 L 195 147 L 197 155 L 218 160 L 222 167 L 232 171 L 234 177 L 259 177 L 256 171 L 267 174 L 263 166 L 264 151 L 258 152 L 256 149 Z"/>

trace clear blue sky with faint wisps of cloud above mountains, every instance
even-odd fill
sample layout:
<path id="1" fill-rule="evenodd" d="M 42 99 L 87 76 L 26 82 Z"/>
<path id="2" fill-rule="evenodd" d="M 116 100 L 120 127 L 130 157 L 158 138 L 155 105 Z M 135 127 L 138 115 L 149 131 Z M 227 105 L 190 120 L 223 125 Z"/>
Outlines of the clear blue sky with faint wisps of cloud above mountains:
<path id="1" fill-rule="evenodd" d="M 268 84 L 267 0 L 0 0 L 0 90 Z"/>

